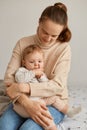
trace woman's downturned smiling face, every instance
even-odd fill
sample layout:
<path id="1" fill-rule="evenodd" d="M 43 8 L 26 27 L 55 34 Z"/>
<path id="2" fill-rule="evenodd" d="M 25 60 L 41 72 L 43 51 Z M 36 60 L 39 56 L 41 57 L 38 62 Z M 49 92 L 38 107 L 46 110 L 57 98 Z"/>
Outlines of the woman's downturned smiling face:
<path id="1" fill-rule="evenodd" d="M 38 36 L 42 44 L 48 45 L 54 43 L 64 26 L 54 23 L 51 20 L 45 20 L 44 22 L 39 23 L 38 27 Z"/>

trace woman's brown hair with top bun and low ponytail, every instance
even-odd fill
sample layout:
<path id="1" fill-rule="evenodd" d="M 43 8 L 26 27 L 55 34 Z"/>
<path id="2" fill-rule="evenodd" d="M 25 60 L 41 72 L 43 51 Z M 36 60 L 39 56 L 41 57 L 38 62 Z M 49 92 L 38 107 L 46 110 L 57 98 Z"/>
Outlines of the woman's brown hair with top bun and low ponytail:
<path id="1" fill-rule="evenodd" d="M 64 25 L 63 31 L 58 36 L 61 43 L 68 42 L 71 39 L 71 31 L 68 28 L 68 16 L 67 7 L 63 3 L 55 3 L 53 6 L 48 6 L 41 14 L 39 22 L 43 22 L 47 19 L 53 22 Z"/>

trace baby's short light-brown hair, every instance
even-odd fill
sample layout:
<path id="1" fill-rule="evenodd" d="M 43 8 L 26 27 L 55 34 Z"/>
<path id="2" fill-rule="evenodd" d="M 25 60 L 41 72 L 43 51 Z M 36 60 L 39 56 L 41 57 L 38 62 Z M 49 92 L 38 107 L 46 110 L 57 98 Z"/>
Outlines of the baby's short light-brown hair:
<path id="1" fill-rule="evenodd" d="M 26 57 L 28 54 L 33 53 L 34 51 L 43 53 L 42 49 L 41 49 L 38 45 L 36 45 L 36 44 L 29 45 L 28 47 L 26 47 L 26 48 L 23 50 L 22 60 L 24 60 L 25 57 Z"/>

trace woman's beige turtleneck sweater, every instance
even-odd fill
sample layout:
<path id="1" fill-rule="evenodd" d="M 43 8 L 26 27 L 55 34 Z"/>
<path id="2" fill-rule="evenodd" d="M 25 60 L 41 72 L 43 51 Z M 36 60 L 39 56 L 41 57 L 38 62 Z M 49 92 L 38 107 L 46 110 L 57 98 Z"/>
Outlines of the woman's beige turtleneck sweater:
<path id="1" fill-rule="evenodd" d="M 45 73 L 49 82 L 29 83 L 31 96 L 49 97 L 56 95 L 68 101 L 67 78 L 70 70 L 71 50 L 69 43 L 55 42 L 48 46 L 41 44 L 37 35 L 20 39 L 13 49 L 4 82 L 15 82 L 14 74 L 21 66 L 23 49 L 30 44 L 38 44 L 45 56 Z"/>

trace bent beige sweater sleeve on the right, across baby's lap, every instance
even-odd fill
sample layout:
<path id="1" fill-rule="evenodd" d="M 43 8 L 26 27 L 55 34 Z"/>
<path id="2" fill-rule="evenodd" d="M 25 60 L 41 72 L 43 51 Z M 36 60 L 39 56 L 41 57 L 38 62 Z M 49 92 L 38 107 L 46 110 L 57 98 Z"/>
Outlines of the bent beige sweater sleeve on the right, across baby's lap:
<path id="1" fill-rule="evenodd" d="M 51 71 L 52 78 L 48 82 L 30 83 L 31 96 L 48 97 L 60 95 L 67 98 L 67 78 L 70 70 L 71 50 L 66 47 Z"/>

